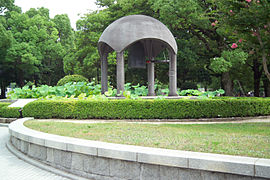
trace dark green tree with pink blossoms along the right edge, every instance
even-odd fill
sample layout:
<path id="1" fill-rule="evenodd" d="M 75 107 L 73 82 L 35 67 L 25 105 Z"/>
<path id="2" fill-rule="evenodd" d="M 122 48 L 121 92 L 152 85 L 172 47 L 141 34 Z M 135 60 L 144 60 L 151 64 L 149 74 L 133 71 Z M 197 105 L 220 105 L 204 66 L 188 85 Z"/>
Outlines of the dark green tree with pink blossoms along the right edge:
<path id="1" fill-rule="evenodd" d="M 243 51 L 249 54 L 245 68 L 237 66 L 237 70 L 230 72 L 231 77 L 240 79 L 242 74 L 242 82 L 245 77 L 251 73 L 254 79 L 249 78 L 245 84 L 249 84 L 254 80 L 253 89 L 255 96 L 259 96 L 259 88 L 261 79 L 268 78 L 264 82 L 266 96 L 269 96 L 269 47 L 270 47 L 270 1 L 269 0 L 219 0 L 216 1 L 218 10 L 218 29 L 224 34 L 230 43 L 238 45 Z M 233 48 L 233 47 L 231 47 Z M 218 56 L 217 56 L 218 57 Z M 250 71 L 247 75 L 247 72 Z M 263 72 L 266 76 L 263 75 Z M 243 76 L 245 74 L 245 76 Z"/>

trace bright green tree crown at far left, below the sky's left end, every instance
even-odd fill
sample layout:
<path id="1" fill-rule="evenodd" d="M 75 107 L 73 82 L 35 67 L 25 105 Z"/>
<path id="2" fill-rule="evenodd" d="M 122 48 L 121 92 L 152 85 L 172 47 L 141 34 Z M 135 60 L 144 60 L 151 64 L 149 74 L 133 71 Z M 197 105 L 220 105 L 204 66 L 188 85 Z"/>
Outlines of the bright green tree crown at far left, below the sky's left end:
<path id="1" fill-rule="evenodd" d="M 33 22 L 37 21 L 31 20 L 27 14 L 18 12 L 11 12 L 7 21 L 14 40 L 7 51 L 6 60 L 12 64 L 15 81 L 20 86 L 24 85 L 25 80 L 30 80 L 34 73 L 39 72 L 42 61 L 42 54 L 37 45 L 42 42 L 44 31 L 39 31 Z"/>

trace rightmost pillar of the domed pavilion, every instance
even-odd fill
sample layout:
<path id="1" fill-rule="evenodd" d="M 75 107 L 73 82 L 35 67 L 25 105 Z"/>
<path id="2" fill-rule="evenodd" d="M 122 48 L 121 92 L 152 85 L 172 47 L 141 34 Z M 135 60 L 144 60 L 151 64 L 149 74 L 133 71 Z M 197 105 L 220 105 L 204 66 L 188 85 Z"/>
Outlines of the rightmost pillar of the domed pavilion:
<path id="1" fill-rule="evenodd" d="M 177 95 L 177 56 L 174 52 L 170 53 L 170 65 L 169 65 L 169 96 Z"/>

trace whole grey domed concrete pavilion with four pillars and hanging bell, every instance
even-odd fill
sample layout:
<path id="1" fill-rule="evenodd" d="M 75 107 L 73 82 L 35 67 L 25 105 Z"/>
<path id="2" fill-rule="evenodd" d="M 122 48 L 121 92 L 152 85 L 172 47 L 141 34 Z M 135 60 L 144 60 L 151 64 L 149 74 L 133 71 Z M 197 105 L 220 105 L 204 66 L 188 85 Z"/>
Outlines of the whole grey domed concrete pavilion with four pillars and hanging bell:
<path id="1" fill-rule="evenodd" d="M 170 30 L 160 21 L 145 15 L 122 17 L 110 24 L 102 33 L 98 50 L 101 57 L 102 93 L 108 90 L 108 60 L 110 52 L 116 51 L 117 93 L 124 91 L 125 50 L 129 49 L 129 67 L 144 68 L 147 63 L 148 96 L 154 92 L 154 63 L 169 62 L 169 96 L 177 96 L 177 44 Z M 169 52 L 169 60 L 157 61 L 155 57 L 163 50 Z M 147 61 L 146 61 L 147 60 Z"/>

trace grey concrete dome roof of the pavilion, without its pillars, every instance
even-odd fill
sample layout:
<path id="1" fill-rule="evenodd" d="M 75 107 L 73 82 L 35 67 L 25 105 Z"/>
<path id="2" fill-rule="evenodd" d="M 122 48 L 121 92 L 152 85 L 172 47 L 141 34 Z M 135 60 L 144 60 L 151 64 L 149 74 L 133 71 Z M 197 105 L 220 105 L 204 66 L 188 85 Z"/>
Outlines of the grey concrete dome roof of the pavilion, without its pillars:
<path id="1" fill-rule="evenodd" d="M 144 39 L 157 40 L 158 44 L 164 44 L 177 54 L 177 44 L 170 30 L 160 21 L 145 15 L 125 16 L 110 24 L 99 38 L 99 53 L 121 52 Z"/>

